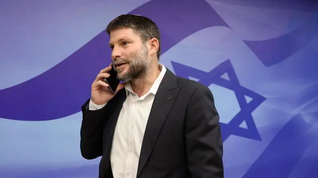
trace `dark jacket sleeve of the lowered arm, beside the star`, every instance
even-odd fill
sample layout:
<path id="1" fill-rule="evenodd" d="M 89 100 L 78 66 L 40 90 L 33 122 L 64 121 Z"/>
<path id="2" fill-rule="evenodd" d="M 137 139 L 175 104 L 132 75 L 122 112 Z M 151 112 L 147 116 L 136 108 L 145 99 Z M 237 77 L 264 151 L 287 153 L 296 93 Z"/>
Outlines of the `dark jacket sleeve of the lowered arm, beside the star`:
<path id="1" fill-rule="evenodd" d="M 185 139 L 191 178 L 224 178 L 219 114 L 211 90 L 201 84 L 187 108 Z"/>

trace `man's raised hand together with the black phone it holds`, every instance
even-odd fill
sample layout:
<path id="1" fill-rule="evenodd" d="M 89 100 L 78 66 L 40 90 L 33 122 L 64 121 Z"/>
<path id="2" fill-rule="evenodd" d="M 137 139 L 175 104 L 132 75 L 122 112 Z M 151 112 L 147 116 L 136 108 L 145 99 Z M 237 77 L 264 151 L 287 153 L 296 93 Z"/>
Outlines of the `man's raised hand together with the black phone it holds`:
<path id="1" fill-rule="evenodd" d="M 91 100 L 97 105 L 105 104 L 124 87 L 125 83 L 119 84 L 116 70 L 112 69 L 112 66 L 108 66 L 99 72 L 92 83 Z"/>

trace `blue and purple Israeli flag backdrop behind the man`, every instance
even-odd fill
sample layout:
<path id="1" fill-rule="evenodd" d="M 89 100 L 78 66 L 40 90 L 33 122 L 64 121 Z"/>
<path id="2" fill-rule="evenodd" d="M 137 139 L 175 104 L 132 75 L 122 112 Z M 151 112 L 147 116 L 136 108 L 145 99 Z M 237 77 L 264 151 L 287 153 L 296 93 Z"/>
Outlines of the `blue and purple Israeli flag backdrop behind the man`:
<path id="1" fill-rule="evenodd" d="M 314 0 L 4 0 L 0 178 L 96 178 L 79 150 L 80 106 L 110 63 L 106 25 L 159 26 L 160 62 L 214 94 L 226 178 L 317 178 Z"/>

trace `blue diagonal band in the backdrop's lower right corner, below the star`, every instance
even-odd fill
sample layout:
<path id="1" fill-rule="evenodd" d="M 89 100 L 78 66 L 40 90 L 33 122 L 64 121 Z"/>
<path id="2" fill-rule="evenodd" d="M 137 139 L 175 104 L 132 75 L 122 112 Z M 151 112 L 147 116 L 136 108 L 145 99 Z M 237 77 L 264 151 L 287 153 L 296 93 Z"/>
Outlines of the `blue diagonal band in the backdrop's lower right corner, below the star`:
<path id="1" fill-rule="evenodd" d="M 274 137 L 242 178 L 288 178 L 306 149 L 315 143 L 317 134 L 315 125 L 307 123 L 300 114 L 296 115 Z"/>

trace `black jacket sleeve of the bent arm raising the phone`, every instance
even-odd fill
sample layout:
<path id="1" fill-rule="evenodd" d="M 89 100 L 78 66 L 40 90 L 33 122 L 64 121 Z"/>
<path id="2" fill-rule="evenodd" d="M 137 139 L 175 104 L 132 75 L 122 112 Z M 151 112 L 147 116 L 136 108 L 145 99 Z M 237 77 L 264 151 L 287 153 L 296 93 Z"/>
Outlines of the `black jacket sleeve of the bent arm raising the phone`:
<path id="1" fill-rule="evenodd" d="M 107 122 L 107 105 L 98 110 L 89 110 L 89 100 L 81 107 L 80 152 L 85 159 L 102 156 L 103 128 Z"/>

